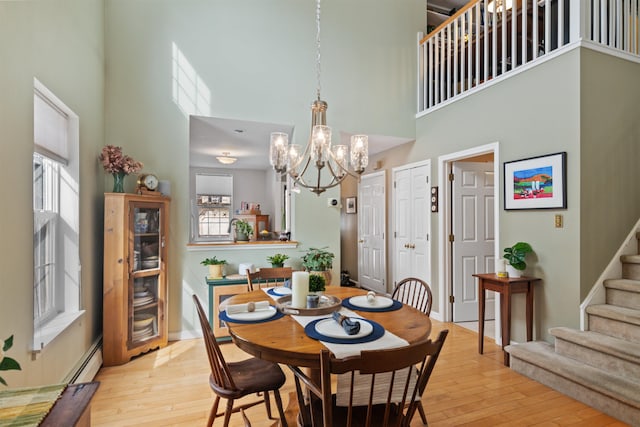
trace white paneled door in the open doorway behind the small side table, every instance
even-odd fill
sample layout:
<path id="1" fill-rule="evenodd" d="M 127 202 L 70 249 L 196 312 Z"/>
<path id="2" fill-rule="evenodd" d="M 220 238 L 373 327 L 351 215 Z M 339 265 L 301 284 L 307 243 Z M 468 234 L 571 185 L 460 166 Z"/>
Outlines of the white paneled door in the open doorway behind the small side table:
<path id="1" fill-rule="evenodd" d="M 493 162 L 455 162 L 453 176 L 453 321 L 477 321 L 473 274 L 493 271 L 495 259 Z M 486 319 L 493 319 L 493 292 L 487 298 Z"/>

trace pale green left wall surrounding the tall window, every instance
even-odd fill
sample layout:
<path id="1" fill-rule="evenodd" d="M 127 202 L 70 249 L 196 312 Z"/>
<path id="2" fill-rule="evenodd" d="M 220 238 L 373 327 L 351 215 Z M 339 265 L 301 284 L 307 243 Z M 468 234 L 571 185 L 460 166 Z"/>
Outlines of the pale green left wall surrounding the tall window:
<path id="1" fill-rule="evenodd" d="M 3 371 L 10 386 L 62 381 L 102 331 L 104 128 L 102 0 L 0 2 L 0 339 L 22 371 Z M 33 78 L 80 120 L 80 257 L 85 315 L 32 360 Z"/>

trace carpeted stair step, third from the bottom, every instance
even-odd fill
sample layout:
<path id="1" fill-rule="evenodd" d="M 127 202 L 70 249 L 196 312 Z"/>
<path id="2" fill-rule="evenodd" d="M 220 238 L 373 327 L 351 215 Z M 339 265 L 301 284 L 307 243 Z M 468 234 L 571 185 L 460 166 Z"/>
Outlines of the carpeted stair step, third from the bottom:
<path id="1" fill-rule="evenodd" d="M 589 330 L 640 343 L 640 310 L 610 304 L 587 307 Z"/>

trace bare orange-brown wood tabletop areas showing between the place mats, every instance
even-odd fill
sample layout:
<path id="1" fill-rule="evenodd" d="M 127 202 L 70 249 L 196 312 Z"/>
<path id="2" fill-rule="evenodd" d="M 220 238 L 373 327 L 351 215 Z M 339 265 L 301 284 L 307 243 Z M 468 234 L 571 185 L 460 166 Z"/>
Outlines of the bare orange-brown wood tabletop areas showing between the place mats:
<path id="1" fill-rule="evenodd" d="M 259 289 L 234 295 L 226 302 L 227 305 L 245 304 L 268 299 L 276 305 L 278 298 L 272 297 L 267 291 L 267 289 Z M 351 297 L 364 296 L 367 293 L 364 289 L 340 286 L 328 286 L 324 291 L 325 295 L 339 298 L 341 301 L 348 301 Z M 399 303 L 396 302 L 396 304 Z M 397 336 L 408 344 L 428 338 L 431 333 L 429 317 L 406 304 L 401 304 L 398 309 L 392 311 L 365 311 L 354 309 L 353 306 L 351 310 L 357 316 L 378 323 L 385 332 Z M 319 369 L 320 351 L 324 348 L 329 348 L 331 351 L 332 347 L 307 335 L 299 321 L 303 317 L 285 315 L 276 320 L 260 323 L 227 322 L 227 327 L 236 346 L 252 356 L 285 365 Z M 330 314 L 326 314 L 326 317 L 330 317 Z M 361 345 L 354 343 L 353 346 L 357 350 Z"/>

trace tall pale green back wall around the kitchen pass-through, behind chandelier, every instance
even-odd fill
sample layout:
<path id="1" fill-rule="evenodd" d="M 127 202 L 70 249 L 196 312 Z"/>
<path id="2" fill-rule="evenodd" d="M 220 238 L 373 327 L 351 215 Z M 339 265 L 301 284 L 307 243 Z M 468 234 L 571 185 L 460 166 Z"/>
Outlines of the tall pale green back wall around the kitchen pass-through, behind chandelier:
<path id="1" fill-rule="evenodd" d="M 424 2 L 322 2 L 322 98 L 340 131 L 413 137 L 416 33 Z M 190 295 L 206 297 L 205 267 L 217 254 L 233 266 L 266 265 L 273 250 L 189 252 L 188 115 L 173 99 L 178 49 L 210 93 L 211 116 L 292 124 L 305 145 L 316 97 L 312 0 L 107 0 L 106 142 L 126 147 L 145 170 L 171 181 L 169 330 L 198 331 Z M 334 140 L 336 139 L 334 136 Z M 265 141 L 267 143 L 267 141 Z M 131 184 L 132 185 L 132 184 Z M 340 215 L 327 197 L 295 196 L 287 252 L 328 246 L 340 259 Z M 339 262 L 334 277 L 339 277 Z"/>

